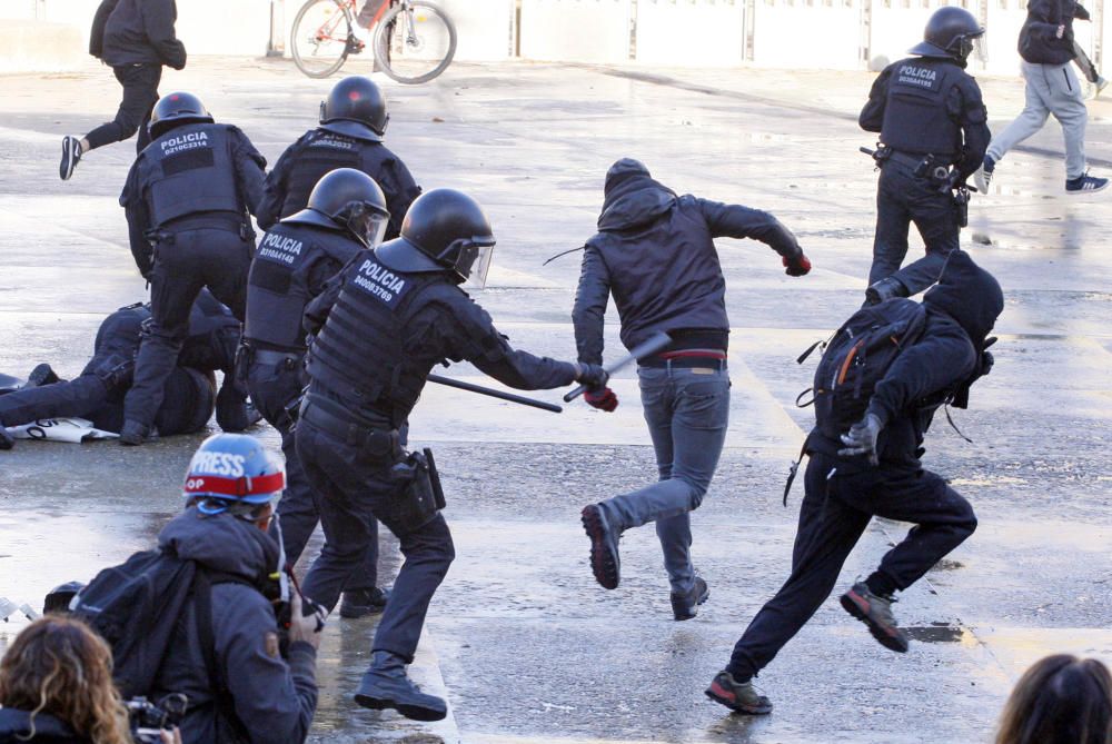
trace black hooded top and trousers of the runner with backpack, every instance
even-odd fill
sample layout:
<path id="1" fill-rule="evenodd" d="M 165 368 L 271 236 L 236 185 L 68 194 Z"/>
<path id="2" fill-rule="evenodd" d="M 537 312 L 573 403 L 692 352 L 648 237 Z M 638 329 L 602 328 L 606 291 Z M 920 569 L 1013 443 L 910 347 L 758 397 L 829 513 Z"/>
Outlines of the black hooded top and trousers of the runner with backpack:
<path id="1" fill-rule="evenodd" d="M 911 586 L 976 528 L 969 502 L 920 463 L 935 410 L 955 388 L 987 371 L 981 353 L 1004 307 L 987 271 L 962 251 L 951 256 L 940 284 L 923 298 L 923 335 L 896 358 L 870 399 L 868 413 L 884 425 L 880 464 L 840 456 L 844 444 L 818 427 L 811 433 L 792 574 L 734 646 L 726 669 L 737 682 L 772 662 L 822 606 L 874 515 L 916 525 L 866 579 L 877 595 Z"/>

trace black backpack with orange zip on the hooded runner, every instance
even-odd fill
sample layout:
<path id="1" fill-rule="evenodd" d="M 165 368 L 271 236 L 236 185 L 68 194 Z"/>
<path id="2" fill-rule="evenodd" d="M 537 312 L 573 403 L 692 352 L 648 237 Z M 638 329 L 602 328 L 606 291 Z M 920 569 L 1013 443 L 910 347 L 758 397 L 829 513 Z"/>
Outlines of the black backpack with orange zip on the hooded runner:
<path id="1" fill-rule="evenodd" d="M 837 439 L 860 421 L 876 384 L 896 357 L 919 340 L 925 325 L 926 308 L 905 298 L 870 305 L 850 316 L 826 341 L 810 390 L 818 430 Z"/>

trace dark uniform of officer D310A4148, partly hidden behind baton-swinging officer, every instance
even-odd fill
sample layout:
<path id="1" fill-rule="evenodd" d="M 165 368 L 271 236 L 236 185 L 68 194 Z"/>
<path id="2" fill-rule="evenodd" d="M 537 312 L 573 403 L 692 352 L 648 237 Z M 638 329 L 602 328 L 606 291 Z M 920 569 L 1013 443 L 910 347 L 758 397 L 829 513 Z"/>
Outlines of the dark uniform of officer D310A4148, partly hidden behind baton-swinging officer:
<path id="1" fill-rule="evenodd" d="M 296 564 L 319 517 L 312 489 L 294 447 L 294 420 L 287 407 L 301 394 L 305 307 L 325 282 L 363 249 L 344 232 L 285 221 L 262 236 L 247 281 L 247 387 L 259 413 L 278 429 L 286 455 L 286 492 L 278 504 L 286 556 Z M 378 540 L 368 548 L 353 589 L 374 588 Z"/>

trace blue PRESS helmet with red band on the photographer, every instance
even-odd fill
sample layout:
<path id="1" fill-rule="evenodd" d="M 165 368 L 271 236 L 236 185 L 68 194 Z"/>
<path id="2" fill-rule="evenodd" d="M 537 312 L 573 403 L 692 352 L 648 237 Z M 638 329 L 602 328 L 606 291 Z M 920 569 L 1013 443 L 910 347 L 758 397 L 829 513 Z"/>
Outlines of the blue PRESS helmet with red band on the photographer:
<path id="1" fill-rule="evenodd" d="M 286 466 L 262 443 L 246 434 L 214 434 L 201 443 L 186 469 L 186 506 L 201 514 L 252 519 L 257 508 L 281 496 Z"/>

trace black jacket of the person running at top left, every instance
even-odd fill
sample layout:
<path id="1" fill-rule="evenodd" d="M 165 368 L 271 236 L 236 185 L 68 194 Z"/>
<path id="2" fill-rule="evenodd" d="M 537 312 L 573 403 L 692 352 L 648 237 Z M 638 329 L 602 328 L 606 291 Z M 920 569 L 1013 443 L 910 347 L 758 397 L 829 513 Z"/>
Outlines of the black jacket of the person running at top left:
<path id="1" fill-rule="evenodd" d="M 89 53 L 112 67 L 186 66 L 186 47 L 173 34 L 175 0 L 103 0 L 92 20 Z"/>

